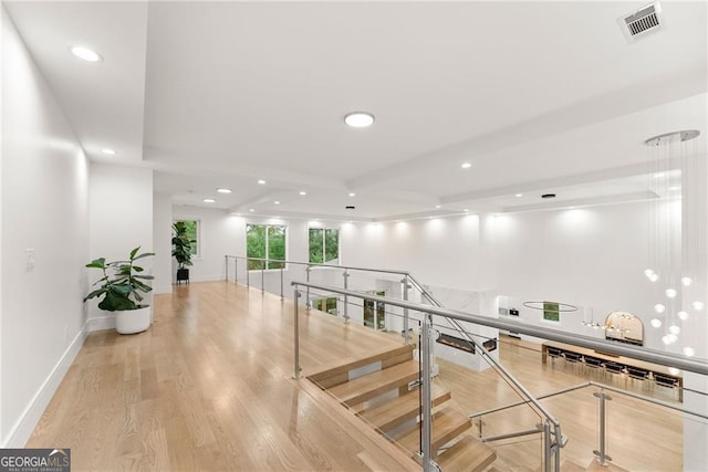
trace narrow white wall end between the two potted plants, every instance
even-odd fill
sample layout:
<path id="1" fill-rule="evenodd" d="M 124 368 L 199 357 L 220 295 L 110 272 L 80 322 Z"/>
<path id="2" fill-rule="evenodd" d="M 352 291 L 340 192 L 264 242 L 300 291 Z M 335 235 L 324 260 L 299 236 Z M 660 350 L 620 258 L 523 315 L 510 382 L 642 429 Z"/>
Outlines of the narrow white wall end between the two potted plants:
<path id="1" fill-rule="evenodd" d="M 153 248 L 155 250 L 153 293 L 155 294 L 173 292 L 171 224 L 171 197 L 166 193 L 153 195 Z"/>

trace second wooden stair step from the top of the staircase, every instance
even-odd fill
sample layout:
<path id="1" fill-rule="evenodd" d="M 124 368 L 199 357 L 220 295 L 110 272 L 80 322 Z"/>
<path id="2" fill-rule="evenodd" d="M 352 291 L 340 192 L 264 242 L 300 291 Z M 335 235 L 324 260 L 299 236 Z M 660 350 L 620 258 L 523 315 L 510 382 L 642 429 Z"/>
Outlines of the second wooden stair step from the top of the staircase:
<path id="1" fill-rule="evenodd" d="M 407 386 L 418 379 L 418 361 L 408 360 L 340 384 L 330 388 L 329 391 L 341 402 L 353 406 L 395 388 Z"/>

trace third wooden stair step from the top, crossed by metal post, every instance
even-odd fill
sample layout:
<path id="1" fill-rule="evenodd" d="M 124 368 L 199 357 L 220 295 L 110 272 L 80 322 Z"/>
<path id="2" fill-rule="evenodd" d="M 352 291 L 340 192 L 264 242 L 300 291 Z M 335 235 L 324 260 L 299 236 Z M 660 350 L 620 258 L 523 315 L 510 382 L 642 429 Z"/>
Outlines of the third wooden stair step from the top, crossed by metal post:
<path id="1" fill-rule="evenodd" d="M 431 388 L 433 406 L 437 407 L 450 399 L 448 389 L 433 384 Z M 416 418 L 420 413 L 420 392 L 415 388 L 395 399 L 363 410 L 360 415 L 374 428 L 381 431 L 388 431 L 392 428 Z"/>

